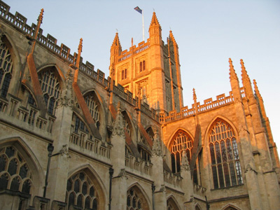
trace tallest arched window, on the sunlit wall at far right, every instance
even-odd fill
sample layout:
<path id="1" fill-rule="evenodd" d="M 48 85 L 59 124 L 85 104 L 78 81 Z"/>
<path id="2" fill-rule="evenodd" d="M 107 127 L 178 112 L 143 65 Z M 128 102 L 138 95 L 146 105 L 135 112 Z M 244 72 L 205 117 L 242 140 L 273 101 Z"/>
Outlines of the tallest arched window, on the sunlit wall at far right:
<path id="1" fill-rule="evenodd" d="M 214 188 L 243 183 L 235 132 L 225 121 L 216 120 L 211 126 L 209 149 Z"/>

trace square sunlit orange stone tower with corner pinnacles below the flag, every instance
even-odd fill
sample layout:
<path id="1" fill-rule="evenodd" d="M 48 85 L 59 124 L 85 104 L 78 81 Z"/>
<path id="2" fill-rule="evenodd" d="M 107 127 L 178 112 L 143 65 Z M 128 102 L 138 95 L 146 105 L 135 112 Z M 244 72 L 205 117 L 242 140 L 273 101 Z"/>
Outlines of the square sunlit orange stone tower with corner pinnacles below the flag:
<path id="1" fill-rule="evenodd" d="M 167 44 L 162 41 L 162 28 L 153 13 L 149 38 L 129 51 L 122 51 L 118 33 L 111 46 L 110 76 L 146 102 L 162 116 L 183 107 L 178 45 L 169 33 Z"/>

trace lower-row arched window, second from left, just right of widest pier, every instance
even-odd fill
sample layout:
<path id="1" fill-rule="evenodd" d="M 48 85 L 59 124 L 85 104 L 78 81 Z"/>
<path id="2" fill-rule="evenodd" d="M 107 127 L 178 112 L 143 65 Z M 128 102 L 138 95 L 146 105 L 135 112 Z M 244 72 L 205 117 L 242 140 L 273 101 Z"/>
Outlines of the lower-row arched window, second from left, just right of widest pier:
<path id="1" fill-rule="evenodd" d="M 68 208 L 71 205 L 82 207 L 82 209 L 98 209 L 97 190 L 92 180 L 84 172 L 79 172 L 67 181 L 66 202 Z"/>

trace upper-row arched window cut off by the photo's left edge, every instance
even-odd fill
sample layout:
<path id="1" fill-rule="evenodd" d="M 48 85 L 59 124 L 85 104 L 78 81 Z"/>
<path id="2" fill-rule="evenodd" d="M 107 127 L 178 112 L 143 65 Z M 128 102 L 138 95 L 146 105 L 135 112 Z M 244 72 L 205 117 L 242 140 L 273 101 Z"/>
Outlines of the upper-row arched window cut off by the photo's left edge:
<path id="1" fill-rule="evenodd" d="M 10 50 L 0 39 L 0 96 L 6 98 L 12 78 L 13 61 Z"/>

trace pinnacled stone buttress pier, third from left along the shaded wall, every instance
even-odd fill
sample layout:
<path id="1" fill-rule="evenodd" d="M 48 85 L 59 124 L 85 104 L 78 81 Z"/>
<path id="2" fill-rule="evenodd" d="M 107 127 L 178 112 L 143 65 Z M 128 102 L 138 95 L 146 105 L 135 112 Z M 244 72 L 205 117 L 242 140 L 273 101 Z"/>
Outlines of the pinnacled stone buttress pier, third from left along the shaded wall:
<path id="1" fill-rule="evenodd" d="M 155 130 L 151 162 L 153 163 L 153 180 L 155 181 L 155 210 L 167 209 L 165 181 L 163 178 L 162 146 L 158 130 Z"/>

